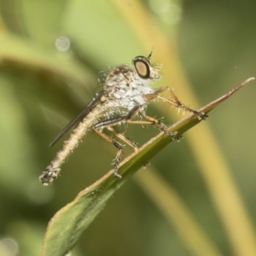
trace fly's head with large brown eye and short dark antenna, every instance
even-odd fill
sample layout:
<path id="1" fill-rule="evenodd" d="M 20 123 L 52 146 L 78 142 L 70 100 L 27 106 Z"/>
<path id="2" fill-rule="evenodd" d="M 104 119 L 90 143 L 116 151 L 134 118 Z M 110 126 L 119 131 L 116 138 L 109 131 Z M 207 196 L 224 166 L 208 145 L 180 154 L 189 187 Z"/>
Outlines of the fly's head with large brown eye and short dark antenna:
<path id="1" fill-rule="evenodd" d="M 148 57 L 137 56 L 132 60 L 137 75 L 141 79 L 160 79 L 158 68 L 154 67 L 149 61 L 151 55 L 152 52 L 150 52 Z"/>

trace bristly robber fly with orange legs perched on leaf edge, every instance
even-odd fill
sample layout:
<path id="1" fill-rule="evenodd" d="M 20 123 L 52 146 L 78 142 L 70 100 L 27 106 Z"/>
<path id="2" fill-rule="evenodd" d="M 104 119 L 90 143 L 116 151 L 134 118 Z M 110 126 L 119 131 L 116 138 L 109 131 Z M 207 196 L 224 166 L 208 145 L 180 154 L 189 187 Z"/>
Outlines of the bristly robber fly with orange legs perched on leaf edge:
<path id="1" fill-rule="evenodd" d="M 67 157 L 73 152 L 89 130 L 94 130 L 98 135 L 112 143 L 118 149 L 116 157 L 113 161 L 113 175 L 121 178 L 118 173 L 119 162 L 121 160 L 123 146 L 105 134 L 104 128 L 111 131 L 116 137 L 129 144 L 137 150 L 137 143 L 132 142 L 129 138 L 119 134 L 113 129 L 113 125 L 120 123 L 155 125 L 160 131 L 165 132 L 173 140 L 178 139 L 177 133 L 168 131 L 167 126 L 160 121 L 146 114 L 146 108 L 149 101 L 156 98 L 170 103 L 176 108 L 183 109 L 190 113 L 195 113 L 198 119 L 205 119 L 206 114 L 198 112 L 194 109 L 186 107 L 179 102 L 177 96 L 169 87 L 160 87 L 152 89 L 150 84 L 156 79 L 160 79 L 159 69 L 150 64 L 150 57 L 137 56 L 132 60 L 133 67 L 122 64 L 113 67 L 104 79 L 104 89 L 98 93 L 94 99 L 75 117 L 62 131 L 55 137 L 49 146 L 54 145 L 67 131 L 74 125 L 78 125 L 73 129 L 71 135 L 64 141 L 61 149 L 55 155 L 43 172 L 40 179 L 44 185 L 52 183 L 61 172 L 61 166 L 67 160 Z M 160 96 L 160 93 L 168 90 L 171 93 L 172 100 Z M 136 119 L 139 116 L 140 119 Z"/>

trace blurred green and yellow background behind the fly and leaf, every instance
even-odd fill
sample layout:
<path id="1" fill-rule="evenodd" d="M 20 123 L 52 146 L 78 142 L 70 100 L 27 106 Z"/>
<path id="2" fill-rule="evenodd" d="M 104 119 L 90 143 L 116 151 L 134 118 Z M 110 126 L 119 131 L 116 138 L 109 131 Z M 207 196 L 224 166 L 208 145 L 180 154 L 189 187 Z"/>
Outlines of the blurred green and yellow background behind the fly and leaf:
<path id="1" fill-rule="evenodd" d="M 61 146 L 48 148 L 51 140 L 101 90 L 101 71 L 153 49 L 153 62 L 163 63 L 163 79 L 155 86 L 169 85 L 182 102 L 199 108 L 256 74 L 255 8 L 253 0 L 1 0 L 0 250 L 9 242 L 14 253 L 7 255 L 39 255 L 49 219 L 111 169 L 115 148 L 90 132 L 52 186 L 38 181 Z M 204 148 L 201 159 L 212 154 L 214 161 L 198 130 L 210 126 L 255 230 L 255 95 L 252 82 L 150 162 L 222 255 L 241 253 L 230 242 L 187 137 L 196 136 Z M 183 117 L 155 105 L 148 113 L 164 116 L 167 124 Z M 140 145 L 158 133 L 125 127 Z M 139 172 L 147 179 L 147 169 Z M 131 179 L 85 230 L 73 255 L 195 253 Z"/>

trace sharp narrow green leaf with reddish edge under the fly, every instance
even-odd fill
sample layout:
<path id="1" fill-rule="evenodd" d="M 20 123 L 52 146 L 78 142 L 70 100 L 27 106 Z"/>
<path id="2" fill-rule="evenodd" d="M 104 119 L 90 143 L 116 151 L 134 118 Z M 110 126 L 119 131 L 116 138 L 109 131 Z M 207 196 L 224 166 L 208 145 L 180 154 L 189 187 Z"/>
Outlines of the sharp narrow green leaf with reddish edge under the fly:
<path id="1" fill-rule="evenodd" d="M 199 110 L 204 113 L 209 113 L 213 108 L 217 107 L 220 102 L 226 100 L 253 79 L 254 78 L 247 79 L 224 96 L 210 102 Z M 177 133 L 181 135 L 200 122 L 201 120 L 197 119 L 195 114 L 190 114 L 188 117 L 178 121 L 175 125 L 172 125 L 169 130 L 172 132 L 177 131 Z M 71 203 L 57 212 L 49 222 L 48 229 L 44 236 L 41 256 L 63 256 L 67 254 L 79 240 L 79 236 L 81 236 L 82 232 L 93 219 L 96 218 L 96 215 L 102 211 L 102 208 L 113 193 L 119 189 L 132 174 L 137 172 L 140 167 L 145 165 L 148 160 L 151 160 L 155 154 L 158 154 L 162 148 L 166 147 L 166 145 L 171 142 L 172 138 L 161 132 L 120 164 L 119 174 L 122 175 L 122 179 L 117 180 L 114 178 L 112 170 L 96 181 L 96 183 L 82 190 Z"/>

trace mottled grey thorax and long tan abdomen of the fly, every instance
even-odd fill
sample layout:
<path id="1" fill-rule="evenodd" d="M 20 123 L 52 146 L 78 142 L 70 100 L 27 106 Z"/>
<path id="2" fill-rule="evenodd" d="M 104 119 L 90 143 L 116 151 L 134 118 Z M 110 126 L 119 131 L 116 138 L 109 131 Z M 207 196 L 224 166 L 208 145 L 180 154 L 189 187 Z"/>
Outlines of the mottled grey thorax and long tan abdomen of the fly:
<path id="1" fill-rule="evenodd" d="M 150 76 L 147 79 L 140 77 L 135 67 L 130 67 L 126 64 L 114 67 L 108 73 L 104 81 L 104 93 L 101 99 L 96 106 L 90 109 L 90 112 L 65 140 L 55 158 L 40 177 L 42 183 L 47 185 L 58 177 L 59 172 L 61 172 L 61 166 L 73 152 L 73 149 L 78 146 L 79 141 L 86 132 L 93 128 L 94 125 L 104 119 L 127 114 L 136 106 L 140 106 L 138 113 L 145 111 L 147 100 L 144 96 L 154 94 L 154 90 L 149 85 L 153 79 L 160 78 L 157 69 L 151 66 L 148 68 L 150 68 Z M 125 119 L 121 121 L 125 121 Z M 102 124 L 101 127 L 103 126 Z"/>

